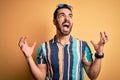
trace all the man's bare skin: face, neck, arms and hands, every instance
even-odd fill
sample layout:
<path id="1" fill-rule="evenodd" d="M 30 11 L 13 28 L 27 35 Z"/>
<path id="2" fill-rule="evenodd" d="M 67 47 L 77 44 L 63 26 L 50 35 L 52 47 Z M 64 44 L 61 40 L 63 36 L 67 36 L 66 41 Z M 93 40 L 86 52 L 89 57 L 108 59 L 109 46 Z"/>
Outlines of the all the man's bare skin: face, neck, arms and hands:
<path id="1" fill-rule="evenodd" d="M 57 40 L 61 42 L 62 45 L 65 45 L 69 42 L 70 32 L 73 26 L 72 12 L 66 8 L 59 9 L 57 18 L 53 20 L 53 23 L 56 26 Z M 108 42 L 107 34 L 105 32 L 100 32 L 100 40 L 98 41 L 98 43 L 94 43 L 93 41 L 91 41 L 91 44 L 93 45 L 97 54 L 103 54 L 103 48 L 106 42 Z M 27 37 L 20 38 L 19 47 L 25 55 L 33 76 L 37 80 L 45 80 L 47 70 L 46 65 L 36 65 L 32 57 L 35 45 L 36 42 L 34 42 L 33 45 L 30 47 L 27 44 Z M 93 62 L 87 62 L 84 55 L 83 63 L 85 65 L 85 71 L 91 80 L 96 80 L 96 78 L 98 77 L 101 69 L 101 60 L 102 59 L 95 58 Z"/>

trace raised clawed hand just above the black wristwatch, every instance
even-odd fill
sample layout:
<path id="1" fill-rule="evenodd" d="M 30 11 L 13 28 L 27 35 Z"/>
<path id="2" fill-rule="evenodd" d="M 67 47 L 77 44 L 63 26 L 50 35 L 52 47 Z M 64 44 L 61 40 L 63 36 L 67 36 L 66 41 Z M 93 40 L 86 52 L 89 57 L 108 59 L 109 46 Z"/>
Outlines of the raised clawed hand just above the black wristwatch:
<path id="1" fill-rule="evenodd" d="M 100 32 L 100 41 L 97 44 L 95 44 L 93 41 L 91 41 L 96 53 L 98 53 L 98 54 L 103 53 L 103 48 L 104 48 L 104 45 L 106 44 L 106 42 L 108 42 L 108 36 L 105 32 L 103 34 Z"/>

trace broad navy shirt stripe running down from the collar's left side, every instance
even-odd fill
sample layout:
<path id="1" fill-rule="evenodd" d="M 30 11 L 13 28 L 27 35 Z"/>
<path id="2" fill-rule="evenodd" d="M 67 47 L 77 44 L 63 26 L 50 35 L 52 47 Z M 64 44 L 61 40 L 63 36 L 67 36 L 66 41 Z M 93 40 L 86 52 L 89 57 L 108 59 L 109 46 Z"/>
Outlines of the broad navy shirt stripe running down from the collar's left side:
<path id="1" fill-rule="evenodd" d="M 53 80 L 59 80 L 59 60 L 58 60 L 58 47 L 57 44 L 52 44 L 50 41 L 50 59 L 53 69 Z M 55 73 L 55 74 L 54 74 Z"/>

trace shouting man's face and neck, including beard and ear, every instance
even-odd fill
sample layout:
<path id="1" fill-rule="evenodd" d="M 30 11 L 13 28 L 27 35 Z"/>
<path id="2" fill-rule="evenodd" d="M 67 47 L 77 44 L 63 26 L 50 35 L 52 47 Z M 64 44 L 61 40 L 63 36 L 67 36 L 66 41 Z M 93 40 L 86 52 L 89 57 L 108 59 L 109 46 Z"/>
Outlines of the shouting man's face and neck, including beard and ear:
<path id="1" fill-rule="evenodd" d="M 71 11 L 65 8 L 58 10 L 58 16 L 53 22 L 57 30 L 57 40 L 65 45 L 69 41 L 70 32 L 73 26 Z M 68 26 L 64 26 L 65 24 Z"/>

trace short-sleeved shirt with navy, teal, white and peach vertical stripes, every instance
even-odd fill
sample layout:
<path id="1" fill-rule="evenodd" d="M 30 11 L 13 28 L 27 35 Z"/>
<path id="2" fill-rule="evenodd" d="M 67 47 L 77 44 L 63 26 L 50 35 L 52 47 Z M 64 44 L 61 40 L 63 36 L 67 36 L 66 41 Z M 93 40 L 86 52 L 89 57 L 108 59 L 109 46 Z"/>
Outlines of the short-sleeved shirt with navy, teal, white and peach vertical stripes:
<path id="1" fill-rule="evenodd" d="M 50 80 L 84 80 L 83 55 L 92 62 L 92 54 L 85 41 L 70 36 L 70 43 L 61 45 L 56 36 L 40 45 L 37 64 L 47 64 L 47 79 Z"/>

